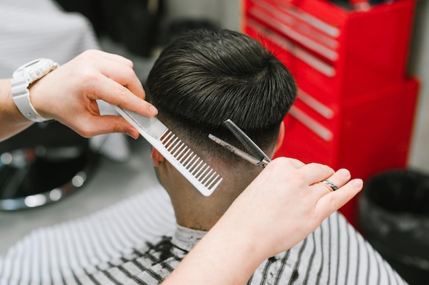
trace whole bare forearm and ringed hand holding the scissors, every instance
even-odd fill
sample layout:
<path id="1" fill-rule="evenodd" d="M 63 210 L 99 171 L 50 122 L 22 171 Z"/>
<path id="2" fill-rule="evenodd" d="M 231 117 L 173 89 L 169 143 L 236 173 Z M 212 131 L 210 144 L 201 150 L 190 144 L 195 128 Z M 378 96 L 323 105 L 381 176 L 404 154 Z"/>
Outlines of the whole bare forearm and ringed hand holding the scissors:
<path id="1" fill-rule="evenodd" d="M 247 284 L 263 260 L 305 239 L 362 187 L 346 169 L 274 159 L 164 284 Z"/>

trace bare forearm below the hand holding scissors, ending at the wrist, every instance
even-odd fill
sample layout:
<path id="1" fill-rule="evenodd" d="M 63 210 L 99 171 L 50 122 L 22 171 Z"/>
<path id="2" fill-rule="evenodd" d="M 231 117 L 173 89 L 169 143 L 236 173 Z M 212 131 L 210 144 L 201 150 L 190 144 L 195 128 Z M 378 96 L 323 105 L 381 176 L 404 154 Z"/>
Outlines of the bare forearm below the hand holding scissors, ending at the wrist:
<path id="1" fill-rule="evenodd" d="M 162 285 L 247 284 L 267 258 L 247 232 L 252 229 L 240 227 L 234 216 L 219 221 Z"/>

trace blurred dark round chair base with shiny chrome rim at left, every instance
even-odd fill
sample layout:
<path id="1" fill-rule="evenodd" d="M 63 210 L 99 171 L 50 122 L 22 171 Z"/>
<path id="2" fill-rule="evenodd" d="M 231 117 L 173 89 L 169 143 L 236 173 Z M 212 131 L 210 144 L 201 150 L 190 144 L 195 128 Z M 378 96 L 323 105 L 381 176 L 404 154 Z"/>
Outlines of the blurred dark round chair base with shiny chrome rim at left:
<path id="1" fill-rule="evenodd" d="M 0 143 L 0 210 L 34 208 L 66 198 L 86 184 L 97 161 L 88 139 L 66 126 L 33 124 Z"/>

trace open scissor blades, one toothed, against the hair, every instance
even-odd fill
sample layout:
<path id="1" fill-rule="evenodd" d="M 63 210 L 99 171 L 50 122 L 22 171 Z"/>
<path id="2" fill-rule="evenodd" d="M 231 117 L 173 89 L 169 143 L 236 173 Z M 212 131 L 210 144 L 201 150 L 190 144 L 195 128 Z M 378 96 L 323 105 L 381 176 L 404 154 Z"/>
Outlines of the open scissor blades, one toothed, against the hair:
<path id="1" fill-rule="evenodd" d="M 241 128 L 239 128 L 234 122 L 232 122 L 232 120 L 228 119 L 223 122 L 223 124 L 225 124 L 225 126 L 234 134 L 238 141 L 243 144 L 245 149 L 248 150 L 250 154 L 243 152 L 243 150 L 240 150 L 235 146 L 232 146 L 232 144 L 228 144 L 226 141 L 219 139 L 219 137 L 216 137 L 215 135 L 209 134 L 208 137 L 212 141 L 215 141 L 217 144 L 229 150 L 230 152 L 238 155 L 238 157 L 249 161 L 249 163 L 265 168 L 265 166 L 267 166 L 267 164 L 271 161 L 267 154 L 265 154 L 265 152 L 263 152 L 259 148 L 259 146 L 255 144 L 255 142 L 252 141 L 252 139 L 250 139 L 250 137 L 247 136 L 245 132 L 241 130 Z"/>

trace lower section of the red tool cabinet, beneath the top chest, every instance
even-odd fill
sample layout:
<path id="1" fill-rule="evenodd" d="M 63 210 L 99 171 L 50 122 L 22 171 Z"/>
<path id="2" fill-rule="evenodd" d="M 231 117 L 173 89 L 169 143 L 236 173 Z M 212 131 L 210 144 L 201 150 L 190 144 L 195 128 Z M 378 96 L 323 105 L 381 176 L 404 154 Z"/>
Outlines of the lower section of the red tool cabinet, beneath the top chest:
<path id="1" fill-rule="evenodd" d="M 285 137 L 276 156 L 346 167 L 363 179 L 404 167 L 418 88 L 417 80 L 407 79 L 338 109 L 323 109 L 326 106 L 308 101 L 300 92 L 284 118 Z"/>

